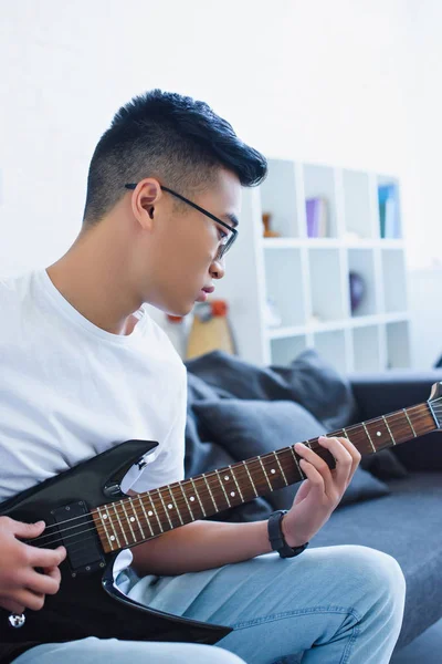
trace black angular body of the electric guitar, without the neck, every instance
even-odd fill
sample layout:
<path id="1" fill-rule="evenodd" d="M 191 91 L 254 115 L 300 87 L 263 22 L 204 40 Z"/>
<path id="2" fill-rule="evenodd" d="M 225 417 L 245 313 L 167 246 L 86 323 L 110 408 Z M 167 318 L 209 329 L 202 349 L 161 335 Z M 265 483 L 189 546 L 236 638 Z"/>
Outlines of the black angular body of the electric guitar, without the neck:
<path id="1" fill-rule="evenodd" d="M 70 519 L 75 528 L 82 525 L 78 528 L 81 546 L 66 526 L 60 530 L 63 529 L 67 537 L 62 533 L 56 537 L 56 546 L 63 543 L 67 550 L 67 559 L 61 566 L 57 594 L 46 595 L 41 611 L 27 611 L 25 623 L 19 629 L 9 624 L 9 612 L 0 609 L 1 643 L 36 645 L 97 636 L 213 644 L 231 631 L 231 627 L 147 609 L 113 585 L 115 554 L 103 552 L 88 512 L 125 497 L 119 489 L 122 478 L 133 464 L 156 446 L 157 443 L 147 440 L 122 443 L 0 505 L 2 516 L 25 522 L 44 519 L 45 532 L 54 532 L 54 523 L 69 523 Z"/>

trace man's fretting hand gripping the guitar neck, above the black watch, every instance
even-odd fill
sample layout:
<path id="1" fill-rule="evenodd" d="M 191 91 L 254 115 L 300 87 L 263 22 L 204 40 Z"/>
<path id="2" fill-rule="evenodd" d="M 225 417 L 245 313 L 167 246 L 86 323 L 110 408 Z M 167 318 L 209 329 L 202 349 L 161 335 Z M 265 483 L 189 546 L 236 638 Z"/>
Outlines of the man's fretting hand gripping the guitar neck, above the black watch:
<path id="1" fill-rule="evenodd" d="M 336 468 L 330 470 L 319 455 L 303 443 L 296 443 L 295 452 L 302 457 L 299 466 L 306 479 L 282 521 L 284 538 L 290 547 L 299 547 L 309 541 L 328 521 L 360 461 L 359 452 L 347 438 L 320 436 L 318 442 L 335 457 Z"/>

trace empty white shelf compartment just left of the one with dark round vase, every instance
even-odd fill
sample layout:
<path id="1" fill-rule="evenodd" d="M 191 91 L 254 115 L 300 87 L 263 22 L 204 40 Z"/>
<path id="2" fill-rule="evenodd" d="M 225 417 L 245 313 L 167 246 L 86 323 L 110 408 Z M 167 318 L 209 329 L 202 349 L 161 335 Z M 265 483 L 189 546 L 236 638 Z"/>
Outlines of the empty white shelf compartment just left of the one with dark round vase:
<path id="1" fill-rule="evenodd" d="M 339 249 L 309 249 L 308 263 L 313 322 L 346 318 Z"/>

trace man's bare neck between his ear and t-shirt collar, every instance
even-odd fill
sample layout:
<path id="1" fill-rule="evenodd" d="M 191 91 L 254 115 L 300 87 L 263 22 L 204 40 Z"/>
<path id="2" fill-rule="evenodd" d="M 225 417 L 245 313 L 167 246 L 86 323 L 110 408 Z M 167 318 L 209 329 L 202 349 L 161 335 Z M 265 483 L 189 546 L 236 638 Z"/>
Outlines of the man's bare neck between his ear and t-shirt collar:
<path id="1" fill-rule="evenodd" d="M 104 221 L 83 231 L 46 272 L 61 294 L 88 321 L 113 334 L 130 334 L 143 302 L 134 297 L 128 256 L 120 235 L 106 232 Z"/>

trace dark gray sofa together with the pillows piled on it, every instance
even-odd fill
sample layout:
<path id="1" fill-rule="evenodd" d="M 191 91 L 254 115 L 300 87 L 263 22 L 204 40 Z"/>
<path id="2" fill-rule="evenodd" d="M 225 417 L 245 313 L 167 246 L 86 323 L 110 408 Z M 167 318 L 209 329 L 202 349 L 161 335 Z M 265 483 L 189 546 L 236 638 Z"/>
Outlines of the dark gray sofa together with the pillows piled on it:
<path id="1" fill-rule="evenodd" d="M 260 369 L 219 352 L 187 366 L 188 477 L 283 447 L 290 422 L 294 443 L 425 402 L 431 385 L 442 381 L 442 370 L 345 378 L 312 351 L 288 367 Z M 386 464 L 368 465 L 370 473 L 360 471 L 361 484 L 352 495 L 348 490 L 348 500 L 343 500 L 311 546 L 364 544 L 399 561 L 407 580 L 399 651 L 442 616 L 442 433 L 392 452 Z M 265 518 L 275 508 L 290 508 L 296 488 L 275 491 L 215 518 Z"/>

